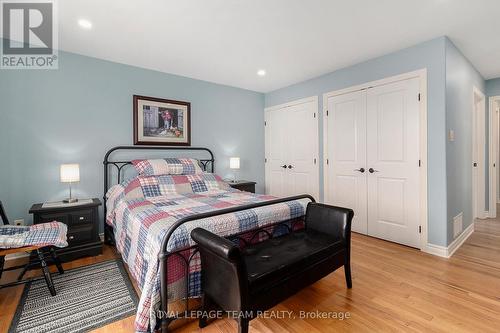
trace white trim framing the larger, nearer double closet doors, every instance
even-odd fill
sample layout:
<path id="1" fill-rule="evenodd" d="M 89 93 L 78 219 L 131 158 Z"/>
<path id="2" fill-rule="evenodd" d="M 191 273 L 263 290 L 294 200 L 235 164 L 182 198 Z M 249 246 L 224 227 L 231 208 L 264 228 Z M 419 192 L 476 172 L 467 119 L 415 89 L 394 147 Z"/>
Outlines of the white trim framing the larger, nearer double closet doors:
<path id="1" fill-rule="evenodd" d="M 368 89 L 374 86 L 381 86 L 397 81 L 403 81 L 413 78 L 420 79 L 420 250 L 428 252 L 427 234 L 428 234 L 428 211 L 427 211 L 427 69 L 421 69 L 409 73 L 404 73 L 377 81 L 363 83 L 357 86 L 331 91 L 323 94 L 323 186 L 328 186 L 328 121 L 326 119 L 328 112 L 328 98 Z M 327 202 L 328 191 L 324 191 L 324 200 Z"/>

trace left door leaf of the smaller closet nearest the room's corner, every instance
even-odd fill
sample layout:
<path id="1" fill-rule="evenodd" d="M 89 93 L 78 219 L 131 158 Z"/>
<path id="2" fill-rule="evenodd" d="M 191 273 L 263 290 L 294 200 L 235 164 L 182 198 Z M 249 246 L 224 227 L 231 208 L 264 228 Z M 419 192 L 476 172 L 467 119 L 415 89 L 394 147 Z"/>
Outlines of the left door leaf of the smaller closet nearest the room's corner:
<path id="1" fill-rule="evenodd" d="M 287 117 L 285 109 L 266 112 L 266 193 L 283 197 L 287 195 L 286 145 Z"/>

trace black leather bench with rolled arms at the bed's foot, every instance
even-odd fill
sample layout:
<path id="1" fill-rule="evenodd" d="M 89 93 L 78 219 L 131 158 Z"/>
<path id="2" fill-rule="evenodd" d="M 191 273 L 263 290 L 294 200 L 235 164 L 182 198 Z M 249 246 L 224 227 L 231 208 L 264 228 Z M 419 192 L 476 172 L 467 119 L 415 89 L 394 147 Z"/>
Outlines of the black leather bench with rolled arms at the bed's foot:
<path id="1" fill-rule="evenodd" d="M 248 323 L 304 287 L 344 266 L 347 287 L 353 211 L 309 203 L 305 228 L 240 249 L 205 229 L 191 232 L 202 265 L 203 311 L 216 306 L 238 313 L 239 332 Z M 236 312 L 233 312 L 236 311 Z M 200 327 L 207 324 L 200 319 Z"/>

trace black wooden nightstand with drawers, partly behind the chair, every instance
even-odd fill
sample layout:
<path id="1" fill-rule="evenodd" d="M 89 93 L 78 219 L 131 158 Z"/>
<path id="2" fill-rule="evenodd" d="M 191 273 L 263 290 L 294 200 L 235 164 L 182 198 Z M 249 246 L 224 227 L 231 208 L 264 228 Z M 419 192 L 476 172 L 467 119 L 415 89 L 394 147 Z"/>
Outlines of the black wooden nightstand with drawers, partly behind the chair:
<path id="1" fill-rule="evenodd" d="M 62 261 L 70 261 L 84 256 L 96 256 L 102 253 L 99 238 L 99 199 L 81 205 L 67 205 L 43 208 L 35 204 L 30 209 L 33 223 L 58 221 L 68 226 L 68 247 L 57 249 Z"/>

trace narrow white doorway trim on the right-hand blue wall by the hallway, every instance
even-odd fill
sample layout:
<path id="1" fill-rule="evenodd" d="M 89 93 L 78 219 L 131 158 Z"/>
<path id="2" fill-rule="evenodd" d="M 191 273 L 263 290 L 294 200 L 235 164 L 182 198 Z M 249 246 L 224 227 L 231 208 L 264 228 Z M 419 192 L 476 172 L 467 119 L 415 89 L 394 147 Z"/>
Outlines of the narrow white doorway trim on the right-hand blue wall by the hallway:
<path id="1" fill-rule="evenodd" d="M 476 114 L 476 98 L 479 98 L 479 115 Z M 472 218 L 485 219 L 488 217 L 488 212 L 485 210 L 486 206 L 486 198 L 484 196 L 485 187 L 486 187 L 486 174 L 484 170 L 484 165 L 486 161 L 484 148 L 486 147 L 486 124 L 484 121 L 486 120 L 486 96 L 484 93 L 479 90 L 476 86 L 472 87 L 472 161 L 470 163 L 477 163 L 477 167 L 472 167 Z M 477 133 L 476 126 L 476 116 L 479 117 L 482 121 L 482 124 L 479 124 L 480 132 Z M 478 140 L 478 142 L 476 141 Z M 479 151 L 476 151 L 477 147 L 480 148 Z M 481 151 L 482 150 L 482 151 Z M 474 160 L 474 156 L 477 157 L 477 161 Z M 478 180 L 476 180 L 479 178 Z"/>

